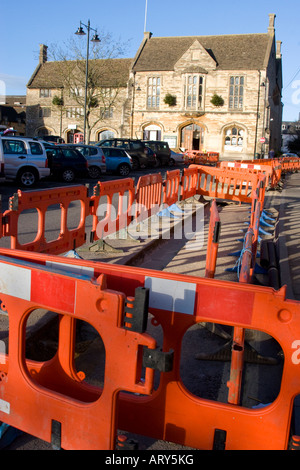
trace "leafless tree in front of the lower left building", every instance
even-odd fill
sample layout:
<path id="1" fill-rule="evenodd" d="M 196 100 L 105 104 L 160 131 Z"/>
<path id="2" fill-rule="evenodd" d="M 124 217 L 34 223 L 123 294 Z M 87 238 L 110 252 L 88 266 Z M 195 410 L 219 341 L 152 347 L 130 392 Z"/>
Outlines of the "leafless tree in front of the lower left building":
<path id="1" fill-rule="evenodd" d="M 89 143 L 92 129 L 105 121 L 110 110 L 120 105 L 120 91 L 127 86 L 129 79 L 130 59 L 122 59 L 128 42 L 112 39 L 110 33 L 99 34 L 101 42 L 91 43 L 88 75 L 87 97 L 85 102 L 86 81 L 86 41 L 72 37 L 62 47 L 51 45 L 49 56 L 58 64 L 55 81 L 60 83 L 61 96 L 55 97 L 60 113 L 74 106 L 76 119 L 84 125 L 86 106 L 86 142 Z"/>

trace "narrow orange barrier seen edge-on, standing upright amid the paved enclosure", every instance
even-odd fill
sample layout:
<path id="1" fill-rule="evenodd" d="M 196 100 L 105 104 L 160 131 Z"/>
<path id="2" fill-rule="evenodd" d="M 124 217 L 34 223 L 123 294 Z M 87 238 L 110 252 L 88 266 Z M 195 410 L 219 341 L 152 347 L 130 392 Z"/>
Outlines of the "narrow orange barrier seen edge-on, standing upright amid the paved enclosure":
<path id="1" fill-rule="evenodd" d="M 205 277 L 213 278 L 216 270 L 221 221 L 215 199 L 211 203 L 206 253 Z"/>

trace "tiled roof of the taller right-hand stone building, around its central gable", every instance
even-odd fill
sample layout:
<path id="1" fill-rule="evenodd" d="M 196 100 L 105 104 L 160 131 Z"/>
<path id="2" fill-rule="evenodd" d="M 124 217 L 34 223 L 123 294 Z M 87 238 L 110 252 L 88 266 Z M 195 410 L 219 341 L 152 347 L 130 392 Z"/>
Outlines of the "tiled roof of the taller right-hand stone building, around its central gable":
<path id="1" fill-rule="evenodd" d="M 221 70 L 259 70 L 269 41 L 269 34 L 220 36 L 151 37 L 138 57 L 136 72 L 174 70 L 176 62 L 195 42 L 206 49 Z M 199 64 L 201 66 L 201 64 Z"/>

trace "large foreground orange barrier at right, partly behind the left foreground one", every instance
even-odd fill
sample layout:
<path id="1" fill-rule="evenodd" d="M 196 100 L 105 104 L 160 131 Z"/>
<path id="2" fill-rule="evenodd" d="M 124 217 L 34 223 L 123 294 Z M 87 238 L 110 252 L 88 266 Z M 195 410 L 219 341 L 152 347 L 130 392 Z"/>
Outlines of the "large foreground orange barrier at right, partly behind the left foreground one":
<path id="1" fill-rule="evenodd" d="M 124 292 L 126 296 L 139 286 L 149 288 L 153 325 L 163 330 L 162 354 L 173 350 L 173 365 L 171 370 L 161 372 L 159 388 L 150 396 L 119 394 L 118 429 L 202 450 L 214 448 L 219 432 L 226 450 L 288 448 L 293 401 L 300 394 L 300 303 L 286 300 L 285 288 L 275 291 L 242 282 L 129 266 L 122 266 L 120 272 L 120 266 L 107 263 L 4 249 L 0 255 L 46 266 L 55 263 L 66 271 L 90 269 L 96 278 L 106 275 L 108 289 Z M 281 387 L 274 402 L 250 409 L 199 398 L 187 390 L 180 378 L 181 345 L 186 331 L 200 322 L 259 330 L 276 339 L 282 348 L 284 364 Z M 1 413 L 0 419 L 5 422 L 6 418 Z M 99 423 L 98 429 L 101 429 Z"/>

